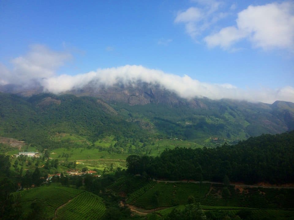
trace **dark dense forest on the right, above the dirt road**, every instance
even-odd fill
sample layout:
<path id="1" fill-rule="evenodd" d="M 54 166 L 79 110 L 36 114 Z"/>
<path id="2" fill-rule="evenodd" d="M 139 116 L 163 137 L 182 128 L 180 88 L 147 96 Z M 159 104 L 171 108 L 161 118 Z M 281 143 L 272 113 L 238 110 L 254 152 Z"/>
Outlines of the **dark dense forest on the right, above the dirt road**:
<path id="1" fill-rule="evenodd" d="M 261 135 L 217 148 L 166 149 L 160 156 L 131 155 L 127 171 L 169 180 L 288 183 L 294 181 L 294 131 Z"/>

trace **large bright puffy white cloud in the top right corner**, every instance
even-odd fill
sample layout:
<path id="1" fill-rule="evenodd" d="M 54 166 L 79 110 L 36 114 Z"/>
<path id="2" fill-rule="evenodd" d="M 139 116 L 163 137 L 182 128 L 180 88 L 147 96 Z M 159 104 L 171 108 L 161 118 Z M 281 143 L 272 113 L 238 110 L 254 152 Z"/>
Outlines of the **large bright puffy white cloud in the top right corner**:
<path id="1" fill-rule="evenodd" d="M 249 6 L 238 13 L 236 27 L 222 28 L 204 38 L 208 46 L 229 48 L 241 39 L 264 50 L 294 47 L 294 2 Z"/>

